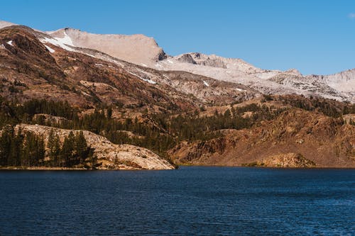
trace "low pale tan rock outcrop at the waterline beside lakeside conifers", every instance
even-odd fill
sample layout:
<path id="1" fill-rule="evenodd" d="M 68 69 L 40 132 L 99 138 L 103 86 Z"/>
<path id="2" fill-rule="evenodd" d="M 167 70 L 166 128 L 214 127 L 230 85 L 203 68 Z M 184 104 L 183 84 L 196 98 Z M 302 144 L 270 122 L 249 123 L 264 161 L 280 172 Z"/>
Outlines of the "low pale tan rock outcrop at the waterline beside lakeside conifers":
<path id="1" fill-rule="evenodd" d="M 43 125 L 16 125 L 16 130 L 28 131 L 35 135 L 43 135 L 45 143 L 48 142 L 50 130 L 60 137 L 61 142 L 69 135 L 70 131 L 74 134 L 80 130 L 64 130 L 52 128 Z M 94 148 L 94 154 L 97 155 L 98 162 L 101 166 L 98 169 L 175 169 L 165 159 L 160 158 L 157 154 L 143 147 L 133 145 L 115 145 L 106 137 L 96 135 L 87 130 L 82 130 L 87 140 L 87 145 Z"/>

